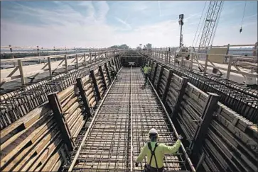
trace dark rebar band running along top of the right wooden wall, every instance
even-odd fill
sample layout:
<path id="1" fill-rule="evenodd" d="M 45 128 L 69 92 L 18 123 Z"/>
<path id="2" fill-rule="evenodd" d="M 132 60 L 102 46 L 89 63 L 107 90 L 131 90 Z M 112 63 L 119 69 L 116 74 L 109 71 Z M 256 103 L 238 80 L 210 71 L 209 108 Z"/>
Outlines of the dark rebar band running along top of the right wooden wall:
<path id="1" fill-rule="evenodd" d="M 154 59 L 154 58 L 153 58 Z M 174 74 L 188 77 L 188 81 L 205 92 L 213 92 L 220 95 L 220 102 L 236 113 L 246 117 L 247 120 L 257 123 L 258 116 L 258 92 L 243 84 L 237 84 L 227 79 L 216 79 L 215 76 L 204 74 L 200 71 L 190 70 L 155 59 L 157 62 L 174 69 Z"/>

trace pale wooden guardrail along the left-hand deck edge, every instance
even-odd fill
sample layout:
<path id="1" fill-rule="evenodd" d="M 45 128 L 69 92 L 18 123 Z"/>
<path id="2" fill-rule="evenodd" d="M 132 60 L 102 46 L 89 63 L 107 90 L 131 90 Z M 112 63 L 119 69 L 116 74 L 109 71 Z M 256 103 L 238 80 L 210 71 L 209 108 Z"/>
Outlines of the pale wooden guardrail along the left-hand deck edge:
<path id="1" fill-rule="evenodd" d="M 48 71 L 48 75 L 45 77 L 51 78 L 52 76 L 56 75 L 55 73 L 57 73 L 58 69 L 62 69 L 62 73 L 68 73 L 68 71 L 71 69 L 78 69 L 79 67 L 86 66 L 91 62 L 97 62 L 97 59 L 103 59 L 110 55 L 117 55 L 118 53 L 118 50 L 112 50 L 102 52 L 77 53 L 71 55 L 51 55 L 43 57 L 1 59 L 1 63 L 15 62 L 18 64 L 18 66 L 12 67 L 10 69 L 1 69 L 1 85 L 7 81 L 21 79 L 21 86 L 24 87 L 28 85 L 26 83 L 26 77 L 28 76 L 32 76 L 30 79 L 33 81 L 33 79 L 35 79 L 38 74 L 42 74 L 43 72 Z"/>

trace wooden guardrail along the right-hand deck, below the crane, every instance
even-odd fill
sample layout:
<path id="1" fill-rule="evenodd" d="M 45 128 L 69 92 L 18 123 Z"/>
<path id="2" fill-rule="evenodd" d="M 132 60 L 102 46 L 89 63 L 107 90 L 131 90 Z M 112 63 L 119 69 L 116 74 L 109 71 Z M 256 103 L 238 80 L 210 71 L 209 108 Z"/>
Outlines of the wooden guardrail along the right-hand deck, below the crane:
<path id="1" fill-rule="evenodd" d="M 232 45 L 234 46 L 234 45 Z M 235 45 L 238 46 L 238 45 Z M 218 46 L 217 46 L 218 47 Z M 144 51 L 141 51 L 144 52 Z M 256 56 L 243 56 L 243 55 L 221 55 L 212 53 L 195 53 L 195 52 L 181 52 L 181 56 L 184 57 L 190 55 L 189 59 L 185 58 L 175 58 L 176 48 L 154 48 L 152 50 L 147 50 L 146 55 L 152 55 L 156 59 L 161 59 L 168 64 L 175 64 L 182 67 L 187 67 L 188 69 L 201 69 L 201 71 L 208 72 L 210 74 L 220 74 L 217 76 L 225 75 L 225 79 L 230 79 L 230 74 L 240 74 L 245 81 L 249 81 L 250 85 L 257 84 L 257 74 L 254 72 L 257 69 L 257 57 Z M 200 57 L 205 57 L 201 59 Z M 209 57 L 224 57 L 225 62 L 222 64 L 212 62 Z M 256 66 L 254 65 L 256 63 Z M 242 64 L 242 65 L 240 65 Z M 244 66 L 245 65 L 245 66 Z M 240 67 L 242 66 L 242 67 Z M 213 69 L 215 68 L 215 69 Z M 216 71 L 216 72 L 215 72 Z M 236 81 L 236 79 L 235 79 Z M 240 84 L 243 82 L 239 81 Z"/>

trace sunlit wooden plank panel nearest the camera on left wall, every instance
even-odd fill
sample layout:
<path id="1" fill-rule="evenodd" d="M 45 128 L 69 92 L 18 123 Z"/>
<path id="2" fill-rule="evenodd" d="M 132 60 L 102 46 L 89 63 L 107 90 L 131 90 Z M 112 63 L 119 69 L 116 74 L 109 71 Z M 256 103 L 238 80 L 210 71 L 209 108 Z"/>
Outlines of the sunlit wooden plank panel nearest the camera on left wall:
<path id="1" fill-rule="evenodd" d="M 56 171 L 67 154 L 47 103 L 1 130 L 1 171 Z"/>

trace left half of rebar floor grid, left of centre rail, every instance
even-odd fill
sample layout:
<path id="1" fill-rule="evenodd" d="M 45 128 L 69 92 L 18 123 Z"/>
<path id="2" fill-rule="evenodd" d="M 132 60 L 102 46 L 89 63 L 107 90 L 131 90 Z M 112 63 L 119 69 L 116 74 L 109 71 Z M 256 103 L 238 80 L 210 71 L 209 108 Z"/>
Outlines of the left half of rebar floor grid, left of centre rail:
<path id="1" fill-rule="evenodd" d="M 74 171 L 129 170 L 130 70 L 120 72 L 89 135 L 83 144 Z M 73 158 L 73 157 L 72 157 Z"/>

